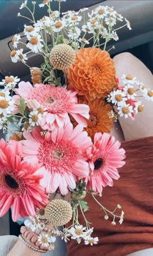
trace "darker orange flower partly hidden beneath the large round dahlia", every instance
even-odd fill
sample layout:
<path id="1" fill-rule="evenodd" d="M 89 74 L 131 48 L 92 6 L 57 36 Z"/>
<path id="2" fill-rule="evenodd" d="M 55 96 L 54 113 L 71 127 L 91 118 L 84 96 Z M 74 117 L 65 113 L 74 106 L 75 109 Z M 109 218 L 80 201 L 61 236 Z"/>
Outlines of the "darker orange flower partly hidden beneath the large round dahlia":
<path id="1" fill-rule="evenodd" d="M 87 126 L 84 128 L 86 132 L 88 132 L 89 137 L 93 139 L 96 132 L 104 132 L 109 133 L 113 126 L 113 118 L 109 118 L 108 113 L 112 111 L 112 106 L 110 104 L 105 104 L 103 100 L 84 100 L 81 96 L 78 99 L 80 104 L 88 104 L 89 106 L 89 120 L 87 121 Z M 73 125 L 76 126 L 77 122 L 74 119 L 71 121 Z"/>

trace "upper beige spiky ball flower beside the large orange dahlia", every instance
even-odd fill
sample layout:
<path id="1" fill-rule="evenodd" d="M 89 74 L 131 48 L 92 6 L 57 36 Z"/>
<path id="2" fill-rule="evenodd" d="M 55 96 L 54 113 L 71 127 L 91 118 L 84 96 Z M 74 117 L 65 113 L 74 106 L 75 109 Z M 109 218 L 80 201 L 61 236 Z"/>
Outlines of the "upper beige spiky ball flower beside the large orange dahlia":
<path id="1" fill-rule="evenodd" d="M 59 70 L 69 68 L 75 61 L 75 51 L 67 44 L 58 44 L 50 54 L 50 62 Z"/>

